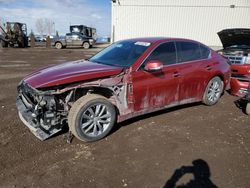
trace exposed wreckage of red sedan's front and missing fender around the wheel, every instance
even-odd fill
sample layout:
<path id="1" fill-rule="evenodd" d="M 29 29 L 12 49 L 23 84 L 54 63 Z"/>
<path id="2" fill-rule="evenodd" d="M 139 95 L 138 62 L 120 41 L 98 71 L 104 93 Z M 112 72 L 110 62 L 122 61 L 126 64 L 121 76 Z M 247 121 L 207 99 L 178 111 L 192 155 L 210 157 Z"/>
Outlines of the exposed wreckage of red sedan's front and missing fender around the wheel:
<path id="1" fill-rule="evenodd" d="M 127 85 L 123 73 L 115 77 L 91 82 L 72 83 L 64 86 L 36 89 L 25 81 L 18 85 L 16 106 L 20 119 L 40 140 L 45 140 L 68 126 L 68 113 L 73 103 L 88 93 L 104 95 L 117 106 L 120 122 L 130 113 Z M 131 102 L 130 102 L 131 103 Z M 122 119 L 123 118 L 123 119 Z"/>

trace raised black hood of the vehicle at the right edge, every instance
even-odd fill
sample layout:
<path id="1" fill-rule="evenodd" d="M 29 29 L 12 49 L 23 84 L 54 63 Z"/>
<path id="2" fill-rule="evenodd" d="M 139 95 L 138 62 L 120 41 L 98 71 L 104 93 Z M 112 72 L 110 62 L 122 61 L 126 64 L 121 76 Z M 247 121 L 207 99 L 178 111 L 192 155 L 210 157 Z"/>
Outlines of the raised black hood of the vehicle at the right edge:
<path id="1" fill-rule="evenodd" d="M 250 46 L 250 29 L 225 29 L 218 35 L 224 48 Z"/>

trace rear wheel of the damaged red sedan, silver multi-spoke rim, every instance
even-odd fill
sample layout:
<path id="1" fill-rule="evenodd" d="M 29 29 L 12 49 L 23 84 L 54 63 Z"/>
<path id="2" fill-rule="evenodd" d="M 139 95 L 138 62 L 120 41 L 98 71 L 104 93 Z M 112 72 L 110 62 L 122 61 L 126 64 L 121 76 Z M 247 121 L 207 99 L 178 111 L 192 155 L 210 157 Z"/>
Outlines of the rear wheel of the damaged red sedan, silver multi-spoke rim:
<path id="1" fill-rule="evenodd" d="M 216 104 L 221 97 L 223 89 L 223 81 L 218 76 L 213 77 L 207 84 L 202 102 L 208 106 Z"/>

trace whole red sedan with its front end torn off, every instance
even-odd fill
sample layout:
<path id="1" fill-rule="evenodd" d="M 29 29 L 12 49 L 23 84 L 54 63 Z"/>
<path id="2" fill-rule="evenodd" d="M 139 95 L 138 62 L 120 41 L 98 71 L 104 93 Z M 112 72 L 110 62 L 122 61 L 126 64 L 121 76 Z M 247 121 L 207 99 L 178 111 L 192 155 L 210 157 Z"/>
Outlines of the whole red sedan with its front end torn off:
<path id="1" fill-rule="evenodd" d="M 18 85 L 17 108 L 41 140 L 67 123 L 75 137 L 96 141 L 135 116 L 198 101 L 214 105 L 229 78 L 227 59 L 199 42 L 129 39 L 28 75 Z"/>

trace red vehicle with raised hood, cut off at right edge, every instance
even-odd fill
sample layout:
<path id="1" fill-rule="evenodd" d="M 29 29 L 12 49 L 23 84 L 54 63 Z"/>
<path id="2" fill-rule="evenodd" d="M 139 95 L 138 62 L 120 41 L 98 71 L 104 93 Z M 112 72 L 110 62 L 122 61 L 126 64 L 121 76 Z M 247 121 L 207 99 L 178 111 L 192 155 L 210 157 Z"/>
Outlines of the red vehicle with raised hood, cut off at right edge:
<path id="1" fill-rule="evenodd" d="M 250 92 L 250 29 L 225 29 L 218 35 L 223 44 L 220 53 L 231 64 L 231 94 L 243 97 Z"/>

